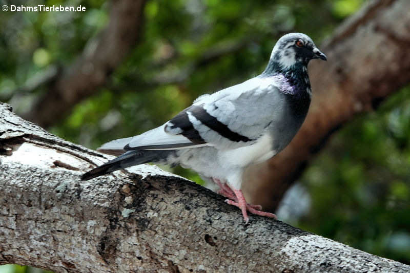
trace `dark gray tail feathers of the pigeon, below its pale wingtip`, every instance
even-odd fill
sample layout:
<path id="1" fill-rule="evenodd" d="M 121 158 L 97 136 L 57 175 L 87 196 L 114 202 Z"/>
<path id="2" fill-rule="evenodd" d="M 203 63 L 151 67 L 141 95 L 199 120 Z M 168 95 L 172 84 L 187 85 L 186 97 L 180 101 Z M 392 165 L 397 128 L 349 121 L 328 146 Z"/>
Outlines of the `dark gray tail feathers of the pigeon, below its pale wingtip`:
<path id="1" fill-rule="evenodd" d="M 128 151 L 107 163 L 96 167 L 95 169 L 81 176 L 81 180 L 90 180 L 92 178 L 109 174 L 114 171 L 125 169 L 134 165 L 144 164 L 155 160 L 158 155 L 156 151 L 132 150 Z M 158 151 L 159 152 L 159 151 Z"/>

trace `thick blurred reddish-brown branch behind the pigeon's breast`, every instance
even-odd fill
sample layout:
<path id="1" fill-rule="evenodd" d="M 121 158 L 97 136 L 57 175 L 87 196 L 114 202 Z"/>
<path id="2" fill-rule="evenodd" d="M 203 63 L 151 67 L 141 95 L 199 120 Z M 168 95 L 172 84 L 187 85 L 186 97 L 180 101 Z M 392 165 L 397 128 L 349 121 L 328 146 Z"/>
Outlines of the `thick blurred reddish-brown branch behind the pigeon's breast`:
<path id="1" fill-rule="evenodd" d="M 285 150 L 248 170 L 247 200 L 274 211 L 333 132 L 410 81 L 408 10 L 406 0 L 373 1 L 320 47 L 328 61 L 309 68 L 313 100 L 308 116 Z"/>

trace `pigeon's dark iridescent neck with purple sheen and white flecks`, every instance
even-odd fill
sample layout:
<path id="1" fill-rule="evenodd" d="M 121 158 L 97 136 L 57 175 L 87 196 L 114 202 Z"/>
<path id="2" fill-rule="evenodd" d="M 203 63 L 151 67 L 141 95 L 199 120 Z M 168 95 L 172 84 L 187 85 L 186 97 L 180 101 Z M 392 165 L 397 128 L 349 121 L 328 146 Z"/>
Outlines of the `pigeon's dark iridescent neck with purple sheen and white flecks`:
<path id="1" fill-rule="evenodd" d="M 279 85 L 279 90 L 285 94 L 300 98 L 311 97 L 307 62 L 298 61 L 290 67 L 283 67 L 280 62 L 270 59 L 260 76 L 273 77 Z"/>

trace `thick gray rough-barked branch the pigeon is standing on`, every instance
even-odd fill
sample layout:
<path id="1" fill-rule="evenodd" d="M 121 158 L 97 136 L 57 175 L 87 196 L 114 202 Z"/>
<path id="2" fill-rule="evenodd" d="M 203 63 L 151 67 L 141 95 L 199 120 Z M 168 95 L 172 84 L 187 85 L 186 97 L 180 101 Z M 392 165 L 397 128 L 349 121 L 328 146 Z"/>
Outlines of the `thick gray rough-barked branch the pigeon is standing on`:
<path id="1" fill-rule="evenodd" d="M 156 166 L 80 181 L 109 156 L 0 104 L 0 264 L 55 272 L 409 272 L 280 221 L 251 216 Z M 279 216 L 280 218 L 280 216 Z"/>

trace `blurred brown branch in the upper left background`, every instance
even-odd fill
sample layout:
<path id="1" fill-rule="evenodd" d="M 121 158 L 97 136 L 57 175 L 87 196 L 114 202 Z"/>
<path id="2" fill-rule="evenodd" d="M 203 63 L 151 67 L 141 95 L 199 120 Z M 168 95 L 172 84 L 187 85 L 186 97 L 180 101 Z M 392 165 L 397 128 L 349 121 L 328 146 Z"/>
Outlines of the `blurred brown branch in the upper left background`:
<path id="1" fill-rule="evenodd" d="M 25 117 L 48 127 L 64 117 L 78 101 L 104 85 L 138 40 L 145 2 L 112 1 L 107 28 L 90 41 L 83 55 L 71 67 L 56 75 L 48 92 Z"/>

